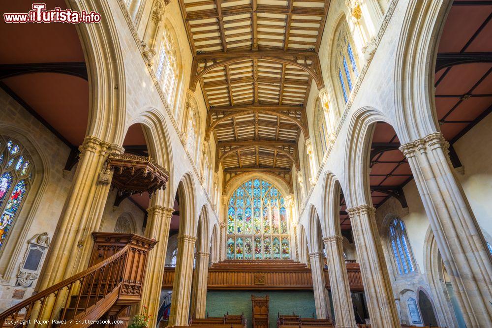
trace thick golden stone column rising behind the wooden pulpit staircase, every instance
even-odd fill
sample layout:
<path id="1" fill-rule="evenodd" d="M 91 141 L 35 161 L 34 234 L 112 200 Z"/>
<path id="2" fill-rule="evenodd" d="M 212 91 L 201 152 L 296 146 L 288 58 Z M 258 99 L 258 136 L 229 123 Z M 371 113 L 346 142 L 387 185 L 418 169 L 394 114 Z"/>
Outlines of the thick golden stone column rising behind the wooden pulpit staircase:
<path id="1" fill-rule="evenodd" d="M 87 268 L 92 232 L 101 223 L 113 174 L 105 167 L 110 153 L 121 146 L 87 136 L 79 147 L 80 160 L 58 220 L 43 271 L 36 286 L 44 290 Z"/>

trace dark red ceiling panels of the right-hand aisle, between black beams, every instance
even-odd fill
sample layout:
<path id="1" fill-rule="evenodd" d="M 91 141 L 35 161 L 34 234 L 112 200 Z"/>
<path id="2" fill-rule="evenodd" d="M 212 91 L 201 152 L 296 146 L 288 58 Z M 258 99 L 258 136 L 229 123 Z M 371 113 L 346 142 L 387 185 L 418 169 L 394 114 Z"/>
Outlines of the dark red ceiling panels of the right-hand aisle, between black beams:
<path id="1" fill-rule="evenodd" d="M 439 53 L 491 52 L 492 23 L 487 21 L 492 5 L 454 5 L 439 42 Z M 483 26 L 483 27 L 482 27 Z M 441 69 L 435 73 L 435 105 L 441 132 L 451 144 L 474 124 L 474 120 L 492 106 L 492 64 L 468 63 Z M 399 142 L 393 127 L 378 122 L 373 143 Z M 371 186 L 402 186 L 412 179 L 408 162 L 400 150 L 388 150 L 371 158 Z M 389 196 L 371 192 L 377 208 Z M 341 200 L 342 210 L 345 202 Z M 348 215 L 340 215 L 342 230 L 351 228 Z"/>

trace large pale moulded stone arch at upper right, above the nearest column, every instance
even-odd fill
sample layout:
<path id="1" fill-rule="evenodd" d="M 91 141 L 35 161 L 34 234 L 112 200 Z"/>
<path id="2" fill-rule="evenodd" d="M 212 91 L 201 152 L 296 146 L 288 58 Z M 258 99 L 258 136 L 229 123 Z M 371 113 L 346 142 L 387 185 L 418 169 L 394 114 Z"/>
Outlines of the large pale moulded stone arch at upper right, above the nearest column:
<path id="1" fill-rule="evenodd" d="M 439 131 L 434 67 L 444 18 L 452 2 L 408 1 L 395 61 L 395 108 L 401 109 L 396 112 L 396 125 L 401 144 Z"/>

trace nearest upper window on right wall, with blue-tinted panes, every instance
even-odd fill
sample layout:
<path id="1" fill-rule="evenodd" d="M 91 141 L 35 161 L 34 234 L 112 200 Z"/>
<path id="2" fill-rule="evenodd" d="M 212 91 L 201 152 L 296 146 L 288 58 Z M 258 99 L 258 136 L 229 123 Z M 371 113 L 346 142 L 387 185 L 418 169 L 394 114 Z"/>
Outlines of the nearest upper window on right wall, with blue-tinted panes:
<path id="1" fill-rule="evenodd" d="M 357 63 L 352 50 L 352 45 L 350 44 L 344 26 L 341 26 L 340 31 L 338 32 L 336 47 L 336 74 L 338 76 L 343 99 L 347 102 L 355 81 L 359 76 L 359 72 L 357 70 Z"/>

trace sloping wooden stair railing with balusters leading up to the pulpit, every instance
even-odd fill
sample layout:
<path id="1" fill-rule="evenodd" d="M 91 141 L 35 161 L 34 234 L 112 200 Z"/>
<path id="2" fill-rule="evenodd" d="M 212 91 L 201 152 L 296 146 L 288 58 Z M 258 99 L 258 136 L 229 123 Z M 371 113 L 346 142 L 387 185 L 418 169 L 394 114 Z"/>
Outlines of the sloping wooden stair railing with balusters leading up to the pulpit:
<path id="1" fill-rule="evenodd" d="M 54 286 L 47 288 L 0 314 L 0 328 L 8 327 L 51 327 L 52 319 L 69 320 L 77 316 L 79 311 L 87 311 L 100 300 L 104 299 L 123 283 L 125 261 L 130 244 L 126 244 L 114 255 L 86 270 L 69 277 Z M 78 284 L 77 284 L 78 282 Z M 47 313 L 46 303 L 51 296 L 52 309 Z M 64 298 L 64 299 L 63 299 Z M 74 304 L 72 305 L 72 302 Z M 20 313 L 25 309 L 25 313 Z M 55 311 L 60 310 L 60 315 Z M 34 320 L 47 320 L 34 323 Z M 31 324 L 28 322 L 31 320 Z M 10 321 L 10 322 L 9 322 Z"/>

